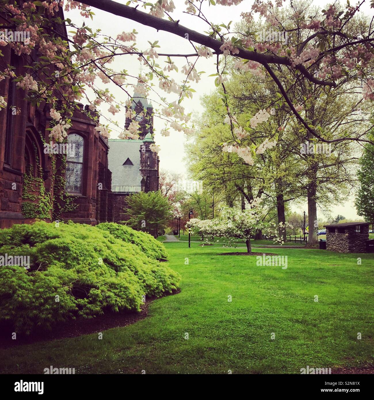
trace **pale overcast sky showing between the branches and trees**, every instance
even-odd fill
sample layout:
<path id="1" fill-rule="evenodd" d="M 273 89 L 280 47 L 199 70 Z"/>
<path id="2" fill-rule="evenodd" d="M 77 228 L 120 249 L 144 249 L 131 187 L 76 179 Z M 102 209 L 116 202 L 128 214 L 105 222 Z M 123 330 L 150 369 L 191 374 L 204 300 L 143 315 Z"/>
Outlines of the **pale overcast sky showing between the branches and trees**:
<path id="1" fill-rule="evenodd" d="M 119 3 L 126 4 L 127 1 L 125 0 L 117 0 Z M 346 3 L 344 1 L 344 3 Z M 182 11 L 186 9 L 186 6 L 184 5 L 184 0 L 174 0 L 174 4 L 176 5 L 176 10 L 172 13 L 172 16 L 175 20 L 179 19 L 180 24 L 190 28 L 197 30 L 198 32 L 204 32 L 205 30 L 208 30 L 208 25 L 197 18 L 196 16 L 189 16 L 183 13 Z M 233 21 L 237 22 L 240 20 L 240 13 L 241 12 L 248 12 L 251 9 L 251 6 L 253 4 L 253 0 L 244 0 L 241 4 L 238 6 L 208 6 L 208 2 L 205 5 L 205 14 L 208 17 L 208 20 L 221 24 L 222 22 L 225 23 L 226 25 L 228 22 Z M 328 2 L 321 1 L 321 0 L 313 0 L 313 4 L 316 6 L 321 6 L 325 8 L 326 4 Z M 354 2 L 352 1 L 352 5 Z M 140 9 L 140 7 L 139 7 Z M 137 35 L 137 47 L 144 51 L 150 47 L 148 44 L 148 40 L 151 42 L 154 42 L 155 40 L 159 40 L 159 45 L 161 48 L 156 49 L 158 52 L 162 53 L 170 53 L 170 54 L 188 54 L 193 52 L 193 48 L 191 44 L 188 42 L 188 40 L 181 38 L 179 36 L 172 35 L 170 33 L 166 32 L 157 32 L 154 28 L 149 28 L 147 26 L 143 26 L 142 24 L 139 24 L 137 22 L 133 22 L 130 20 L 126 20 L 125 18 L 115 16 L 112 14 L 109 14 L 107 12 L 93 9 L 95 12 L 94 20 L 91 21 L 90 19 L 83 18 L 80 16 L 79 11 L 73 10 L 68 13 L 68 16 L 72 21 L 74 21 L 78 26 L 81 24 L 81 22 L 84 20 L 84 22 L 90 26 L 92 29 L 98 29 L 100 28 L 102 30 L 103 34 L 110 35 L 114 38 L 116 38 L 117 34 L 120 32 L 131 32 L 133 29 L 136 29 L 138 32 Z M 142 9 L 144 10 L 144 9 Z M 177 12 L 177 10 L 179 10 Z M 368 4 L 366 4 L 365 8 L 362 9 L 361 12 L 365 12 L 367 15 L 373 15 L 374 11 L 373 9 L 370 9 L 370 4 L 368 1 Z M 233 24 L 232 24 L 233 26 Z M 158 58 L 158 63 L 160 65 L 165 64 L 164 63 L 165 58 Z M 182 68 L 183 65 L 186 64 L 186 59 L 185 58 L 174 58 L 173 59 L 176 65 L 178 66 L 178 69 Z M 185 99 L 182 103 L 184 106 L 186 112 L 193 112 L 194 115 L 198 115 L 202 111 L 201 105 L 199 98 L 203 94 L 209 94 L 213 90 L 215 90 L 214 86 L 214 78 L 215 77 L 208 77 L 210 74 L 213 74 L 216 72 L 216 66 L 214 65 L 215 63 L 215 58 L 210 58 L 210 59 L 200 59 L 197 66 L 196 70 L 198 71 L 205 71 L 206 74 L 202 76 L 202 79 L 200 82 L 197 84 L 195 82 L 192 82 L 192 87 L 196 90 L 196 93 L 194 94 L 194 98 L 192 100 Z M 166 65 L 166 64 L 165 64 Z M 131 55 L 126 55 L 126 56 L 119 56 L 115 62 L 110 64 L 110 66 L 114 70 L 122 70 L 126 69 L 128 70 L 128 73 L 134 76 L 138 76 L 140 72 L 140 63 L 137 60 L 137 56 L 131 56 Z M 145 68 L 145 67 L 144 67 Z M 171 74 L 170 74 L 171 75 Z M 184 74 L 176 74 L 175 71 L 173 71 L 173 78 L 176 80 L 176 82 L 180 82 L 185 75 Z M 98 86 L 105 88 L 106 85 L 102 84 L 99 78 L 96 80 L 96 84 Z M 101 85 L 99 84 L 99 81 Z M 158 80 L 154 78 L 153 80 L 154 84 L 156 85 L 154 88 L 156 90 L 156 93 L 158 93 L 162 97 L 166 97 L 168 101 L 174 101 L 176 100 L 176 95 L 168 95 L 166 92 L 162 91 L 161 89 L 158 88 Z M 136 83 L 134 80 L 131 83 Z M 131 89 L 129 89 L 130 92 Z M 110 91 L 116 96 L 116 100 L 118 101 L 125 101 L 127 99 L 126 94 L 120 90 L 119 88 L 115 87 L 114 85 L 110 87 Z M 156 98 L 155 94 L 152 94 L 150 98 L 153 100 L 153 98 Z M 108 106 L 109 107 L 109 106 Z M 115 116 L 112 116 L 112 114 L 108 113 L 106 109 L 108 108 L 106 106 L 101 107 L 102 114 L 104 114 L 107 118 L 113 119 L 119 122 L 120 126 L 124 126 L 125 122 L 125 116 L 124 112 L 118 113 Z M 103 124 L 106 124 L 104 119 L 101 120 Z M 155 141 L 156 144 L 160 145 L 161 151 L 158 153 L 160 156 L 160 168 L 163 170 L 170 170 L 170 171 L 176 171 L 182 174 L 185 174 L 186 172 L 186 167 L 188 161 L 184 160 L 185 158 L 185 153 L 184 153 L 184 145 L 186 143 L 186 138 L 185 135 L 182 132 L 175 132 L 173 130 L 170 130 L 170 136 L 169 137 L 163 137 L 159 134 L 160 130 L 163 128 L 164 123 L 161 121 L 159 118 L 155 118 L 154 120 L 154 128 L 156 130 L 155 134 Z M 117 138 L 118 132 L 112 132 L 111 133 L 111 138 Z M 301 207 L 295 206 L 294 207 L 295 211 L 302 212 L 304 210 L 307 211 L 306 204 L 302 205 Z M 342 214 L 346 216 L 346 218 L 356 218 L 356 210 L 354 208 L 353 201 L 348 201 L 346 204 L 335 204 L 332 206 L 332 215 L 336 214 Z M 321 215 L 321 210 L 318 210 L 318 215 Z"/>

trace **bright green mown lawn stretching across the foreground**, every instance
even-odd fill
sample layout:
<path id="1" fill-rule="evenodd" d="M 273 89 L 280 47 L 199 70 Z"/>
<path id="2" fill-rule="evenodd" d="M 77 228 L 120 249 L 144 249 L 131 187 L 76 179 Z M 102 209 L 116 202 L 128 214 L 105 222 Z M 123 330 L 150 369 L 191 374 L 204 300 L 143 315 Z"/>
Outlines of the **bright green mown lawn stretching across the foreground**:
<path id="1" fill-rule="evenodd" d="M 0 372 L 40 374 L 52 365 L 76 373 L 299 374 L 307 365 L 373 363 L 374 254 L 271 249 L 288 257 L 283 270 L 256 266 L 255 256 L 218 255 L 231 249 L 166 247 L 181 292 L 154 301 L 148 318 L 107 330 L 102 340 L 92 334 L 2 349 Z"/>

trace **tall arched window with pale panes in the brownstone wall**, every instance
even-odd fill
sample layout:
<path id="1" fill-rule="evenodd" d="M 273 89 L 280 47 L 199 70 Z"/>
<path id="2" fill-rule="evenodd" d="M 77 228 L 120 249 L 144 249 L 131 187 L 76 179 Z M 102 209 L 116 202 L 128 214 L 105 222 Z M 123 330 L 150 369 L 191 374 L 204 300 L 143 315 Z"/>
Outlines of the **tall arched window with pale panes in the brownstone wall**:
<path id="1" fill-rule="evenodd" d="M 84 139 L 71 133 L 68 135 L 68 144 L 72 151 L 66 154 L 65 190 L 68 193 L 82 194 Z"/>

